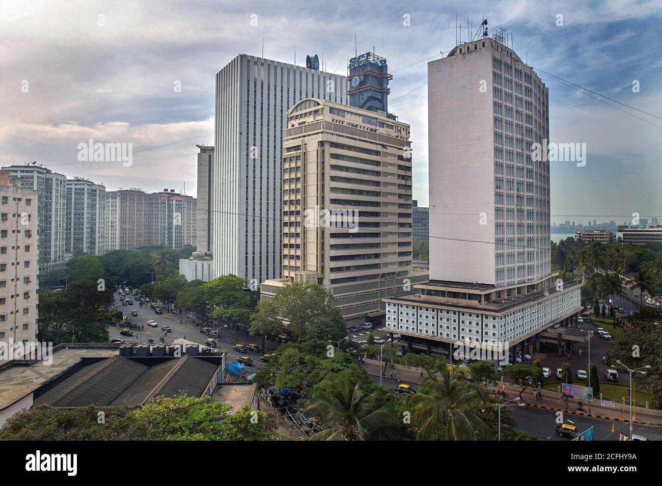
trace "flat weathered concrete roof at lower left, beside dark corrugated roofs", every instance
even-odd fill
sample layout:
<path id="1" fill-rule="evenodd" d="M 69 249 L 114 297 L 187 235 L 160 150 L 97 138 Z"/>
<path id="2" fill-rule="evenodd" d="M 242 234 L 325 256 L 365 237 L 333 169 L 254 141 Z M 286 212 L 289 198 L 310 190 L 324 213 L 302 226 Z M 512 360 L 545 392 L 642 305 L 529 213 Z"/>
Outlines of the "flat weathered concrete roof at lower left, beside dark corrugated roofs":
<path id="1" fill-rule="evenodd" d="M 0 369 L 0 410 L 29 395 L 49 379 L 77 364 L 81 358 L 110 358 L 117 354 L 117 346 L 113 346 L 113 348 L 63 347 L 54 350 L 53 362 L 50 365 L 36 362 L 30 365 L 13 365 Z"/>

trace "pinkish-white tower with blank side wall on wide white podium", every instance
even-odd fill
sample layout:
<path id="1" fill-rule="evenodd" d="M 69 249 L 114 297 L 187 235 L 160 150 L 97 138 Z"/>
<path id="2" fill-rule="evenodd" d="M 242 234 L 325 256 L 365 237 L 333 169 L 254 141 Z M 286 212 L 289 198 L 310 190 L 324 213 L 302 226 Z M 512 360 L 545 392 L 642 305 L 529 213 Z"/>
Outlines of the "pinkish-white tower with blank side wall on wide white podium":
<path id="1" fill-rule="evenodd" d="M 553 329 L 582 307 L 581 285 L 551 273 L 549 162 L 534 145 L 547 150 L 547 87 L 497 37 L 428 63 L 430 283 L 386 299 L 410 350 L 561 352 L 574 339 Z"/>

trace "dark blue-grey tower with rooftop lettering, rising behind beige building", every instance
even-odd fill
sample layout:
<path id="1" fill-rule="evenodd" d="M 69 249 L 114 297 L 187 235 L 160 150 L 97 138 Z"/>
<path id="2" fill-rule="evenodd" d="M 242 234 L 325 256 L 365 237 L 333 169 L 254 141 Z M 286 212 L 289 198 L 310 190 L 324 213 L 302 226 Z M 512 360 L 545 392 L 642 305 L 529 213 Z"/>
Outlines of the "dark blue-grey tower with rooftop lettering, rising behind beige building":
<path id="1" fill-rule="evenodd" d="M 350 75 L 350 106 L 368 111 L 383 111 L 389 113 L 389 66 L 384 58 L 373 52 L 350 59 L 348 66 Z"/>

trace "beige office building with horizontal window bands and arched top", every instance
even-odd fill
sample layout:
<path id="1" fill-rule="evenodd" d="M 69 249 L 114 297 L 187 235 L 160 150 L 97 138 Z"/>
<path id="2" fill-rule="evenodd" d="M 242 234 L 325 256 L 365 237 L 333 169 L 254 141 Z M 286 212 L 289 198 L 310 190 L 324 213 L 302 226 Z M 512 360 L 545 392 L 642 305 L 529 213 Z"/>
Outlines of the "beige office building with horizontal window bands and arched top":
<path id="1" fill-rule="evenodd" d="M 409 125 L 320 99 L 288 112 L 283 138 L 283 279 L 314 281 L 346 320 L 385 315 L 381 299 L 411 291 L 412 159 Z"/>

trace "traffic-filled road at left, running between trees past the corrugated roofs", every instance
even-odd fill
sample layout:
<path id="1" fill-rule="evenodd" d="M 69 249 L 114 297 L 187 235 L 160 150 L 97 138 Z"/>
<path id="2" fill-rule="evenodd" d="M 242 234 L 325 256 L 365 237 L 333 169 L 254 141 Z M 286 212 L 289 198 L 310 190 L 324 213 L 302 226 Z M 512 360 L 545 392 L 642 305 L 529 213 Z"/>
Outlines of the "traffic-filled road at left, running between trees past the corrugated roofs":
<path id="1" fill-rule="evenodd" d="M 170 315 L 167 315 L 166 313 L 164 314 L 157 314 L 154 312 L 154 309 L 150 307 L 150 305 L 143 305 L 140 307 L 140 304 L 136 302 L 136 299 L 134 298 L 134 303 L 133 305 L 122 305 L 122 302 L 120 301 L 119 293 L 115 293 L 115 305 L 116 308 L 119 309 L 120 311 L 124 311 L 125 313 L 128 313 L 130 316 L 131 322 L 133 324 L 144 324 L 145 328 L 144 330 L 136 330 L 132 329 L 134 331 L 133 336 L 122 336 L 120 335 L 120 330 L 122 327 L 115 327 L 115 326 L 109 326 L 108 331 L 109 334 L 112 338 L 122 338 L 125 340 L 127 343 L 132 343 L 132 342 L 148 342 L 149 338 L 152 338 L 154 340 L 155 344 L 158 344 L 160 336 L 163 336 L 164 332 L 161 330 L 161 326 L 164 324 L 167 324 L 168 326 L 171 327 L 171 332 L 167 333 L 166 337 L 166 344 L 173 342 L 175 339 L 180 339 L 180 338 L 186 338 L 189 341 L 197 342 L 198 344 L 203 344 L 205 339 L 207 339 L 209 336 L 205 334 L 201 334 L 200 328 L 196 326 L 192 326 L 190 324 L 186 323 L 181 323 L 179 322 L 179 317 L 173 317 Z M 131 311 L 138 311 L 138 316 L 131 316 Z M 157 327 L 150 327 L 147 325 L 148 320 L 156 320 L 158 326 Z M 228 351 L 228 362 L 234 362 L 236 361 L 236 358 L 239 356 L 250 356 L 250 358 L 254 361 L 254 364 L 251 365 L 252 371 L 257 371 L 259 367 L 261 367 L 262 362 L 260 361 L 260 356 L 262 356 L 261 353 L 254 353 L 254 352 L 246 352 L 246 353 L 238 353 L 232 349 L 232 346 L 234 344 L 240 343 L 244 344 L 246 346 L 247 344 L 252 344 L 256 342 L 255 337 L 250 337 L 247 340 L 242 340 L 242 338 L 245 338 L 245 334 L 242 334 L 241 332 L 239 333 L 238 339 L 235 340 L 234 338 L 234 331 L 228 331 L 226 329 L 219 330 L 218 332 L 218 347 L 220 349 L 224 349 Z M 230 340 L 230 344 L 228 344 L 228 339 Z M 258 346 L 261 346 L 261 340 L 257 340 L 256 344 Z"/>

